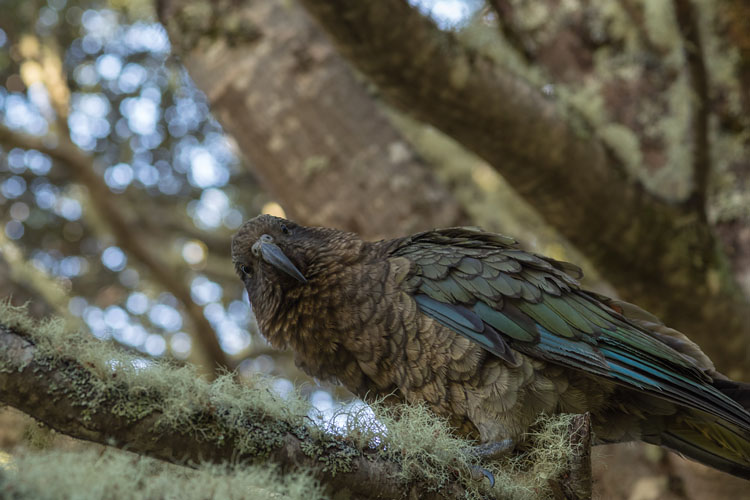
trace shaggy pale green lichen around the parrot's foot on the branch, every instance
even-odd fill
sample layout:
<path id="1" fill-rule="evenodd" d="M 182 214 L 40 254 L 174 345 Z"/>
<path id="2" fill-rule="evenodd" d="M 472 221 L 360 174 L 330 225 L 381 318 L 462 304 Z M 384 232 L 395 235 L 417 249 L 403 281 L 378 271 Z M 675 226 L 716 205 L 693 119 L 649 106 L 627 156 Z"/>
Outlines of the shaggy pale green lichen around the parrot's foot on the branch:
<path id="1" fill-rule="evenodd" d="M 371 409 L 377 420 L 367 407 L 343 411 L 346 424 L 342 437 L 353 440 L 357 448 L 369 448 L 399 463 L 399 477 L 405 481 L 424 481 L 439 490 L 458 476 L 470 498 L 486 494 L 519 500 L 552 498 L 550 481 L 561 477 L 579 451 L 568 439 L 574 415 L 540 417 L 528 435 L 526 452 L 483 464 L 467 453 L 476 443 L 456 437 L 444 419 L 423 405 L 376 402 Z M 486 481 L 470 479 L 473 466 L 494 474 L 494 489 L 490 490 Z"/>

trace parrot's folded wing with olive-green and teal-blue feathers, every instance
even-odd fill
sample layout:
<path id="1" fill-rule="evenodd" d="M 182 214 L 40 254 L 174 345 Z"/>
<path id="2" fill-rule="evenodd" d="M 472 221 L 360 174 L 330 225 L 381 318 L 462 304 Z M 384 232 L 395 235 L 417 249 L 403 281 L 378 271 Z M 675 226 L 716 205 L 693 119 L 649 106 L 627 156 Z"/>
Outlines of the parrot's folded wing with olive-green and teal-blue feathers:
<path id="1" fill-rule="evenodd" d="M 424 314 L 509 363 L 515 350 L 750 428 L 695 360 L 581 290 L 572 264 L 474 228 L 419 233 L 394 254 L 415 263 L 409 285 Z"/>

